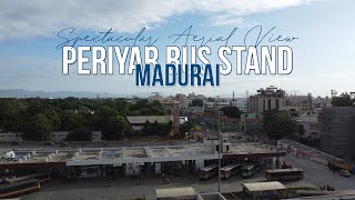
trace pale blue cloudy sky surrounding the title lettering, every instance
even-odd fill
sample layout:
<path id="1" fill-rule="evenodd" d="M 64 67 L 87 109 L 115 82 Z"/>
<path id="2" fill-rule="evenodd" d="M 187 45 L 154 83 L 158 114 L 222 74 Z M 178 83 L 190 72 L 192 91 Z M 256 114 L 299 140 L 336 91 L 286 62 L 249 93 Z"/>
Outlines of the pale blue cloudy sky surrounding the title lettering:
<path id="1" fill-rule="evenodd" d="M 233 90 L 254 93 L 260 88 L 276 86 L 300 94 L 311 92 L 323 97 L 331 96 L 332 89 L 349 92 L 355 90 L 354 9 L 352 0 L 0 1 L 0 89 L 215 96 L 232 94 Z M 75 29 L 72 36 L 84 37 L 112 28 L 113 36 L 134 37 L 145 28 L 144 36 L 159 38 L 155 46 L 160 57 L 164 57 L 165 47 L 173 44 L 169 36 L 182 33 L 190 26 L 192 33 L 206 38 L 227 37 L 237 28 L 230 46 L 242 46 L 245 33 L 255 26 L 262 26 L 263 31 L 276 27 L 275 36 L 298 38 L 274 43 L 292 48 L 293 72 L 288 76 L 231 73 L 221 77 L 220 87 L 136 87 L 134 76 L 79 76 L 75 68 L 70 69 L 70 74 L 62 74 L 62 52 L 55 47 L 63 42 L 58 37 L 63 29 L 72 27 Z M 174 46 L 183 43 L 178 41 Z M 100 43 L 81 41 L 77 46 Z M 210 61 L 217 62 L 216 51 L 223 43 L 209 46 L 213 52 Z"/>

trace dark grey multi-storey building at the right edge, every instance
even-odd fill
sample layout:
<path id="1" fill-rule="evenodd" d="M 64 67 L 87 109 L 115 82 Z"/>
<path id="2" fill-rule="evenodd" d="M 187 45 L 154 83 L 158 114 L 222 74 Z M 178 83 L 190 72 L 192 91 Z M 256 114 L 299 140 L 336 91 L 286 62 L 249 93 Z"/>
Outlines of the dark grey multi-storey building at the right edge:
<path id="1" fill-rule="evenodd" d="M 322 150 L 341 158 L 355 158 L 355 108 L 323 108 L 321 119 Z"/>

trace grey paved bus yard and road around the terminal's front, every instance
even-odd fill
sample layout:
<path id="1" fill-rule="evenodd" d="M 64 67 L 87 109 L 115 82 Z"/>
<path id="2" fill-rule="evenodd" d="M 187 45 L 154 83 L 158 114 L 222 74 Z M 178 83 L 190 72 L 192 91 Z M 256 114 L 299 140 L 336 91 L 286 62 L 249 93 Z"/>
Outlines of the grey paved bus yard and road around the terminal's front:
<path id="1" fill-rule="evenodd" d="M 338 173 L 333 173 L 327 167 L 315 162 L 296 158 L 287 154 L 282 161 L 296 168 L 304 170 L 304 179 L 301 181 L 283 182 L 286 187 L 315 187 L 329 184 L 336 190 L 355 190 L 355 176 L 351 178 L 341 177 Z M 163 184 L 161 178 L 143 177 L 140 186 L 136 186 L 133 178 L 118 178 L 108 187 L 104 178 L 97 179 L 78 179 L 72 182 L 63 182 L 61 180 L 52 180 L 42 187 L 40 192 L 24 196 L 28 200 L 49 200 L 49 199 L 81 199 L 81 200 L 111 200 L 123 197 L 140 197 L 145 196 L 146 199 L 154 199 L 155 188 L 173 188 L 173 187 L 193 187 L 196 192 L 213 192 L 217 191 L 217 178 L 200 181 L 195 180 L 192 174 L 181 177 L 170 177 L 170 183 Z M 242 190 L 242 182 L 265 181 L 264 172 L 260 172 L 253 178 L 242 179 L 240 176 L 232 177 L 229 180 L 222 180 L 222 192 Z"/>

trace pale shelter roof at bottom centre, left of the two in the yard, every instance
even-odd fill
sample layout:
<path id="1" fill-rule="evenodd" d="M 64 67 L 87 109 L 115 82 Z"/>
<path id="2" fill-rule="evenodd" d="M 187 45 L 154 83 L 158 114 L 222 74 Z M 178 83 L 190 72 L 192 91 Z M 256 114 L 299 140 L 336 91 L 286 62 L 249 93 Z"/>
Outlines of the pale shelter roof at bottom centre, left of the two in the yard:
<path id="1" fill-rule="evenodd" d="M 155 189 L 156 198 L 194 197 L 196 192 L 193 188 L 165 188 Z"/>

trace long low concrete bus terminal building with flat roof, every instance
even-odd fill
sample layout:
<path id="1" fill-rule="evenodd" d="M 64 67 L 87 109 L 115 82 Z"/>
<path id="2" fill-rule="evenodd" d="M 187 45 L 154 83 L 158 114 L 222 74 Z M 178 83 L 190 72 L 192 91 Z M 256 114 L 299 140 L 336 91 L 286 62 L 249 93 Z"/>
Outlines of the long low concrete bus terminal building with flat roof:
<path id="1" fill-rule="evenodd" d="M 222 163 L 248 160 L 275 164 L 285 151 L 258 143 L 223 143 Z M 197 171 L 211 163 L 216 163 L 217 142 L 193 143 L 183 146 L 145 146 L 121 148 L 23 148 L 2 149 L 1 169 L 28 171 L 48 171 L 52 173 L 75 173 L 78 177 L 109 174 L 161 174 L 168 171 Z M 266 162 L 267 161 L 267 162 Z M 272 161 L 272 162 L 270 162 Z M 89 170 L 88 167 L 94 170 Z M 97 167 L 99 171 L 94 168 Z M 83 169 L 83 170 L 81 170 Z M 78 174 L 79 173 L 79 174 Z"/>

